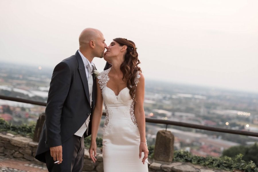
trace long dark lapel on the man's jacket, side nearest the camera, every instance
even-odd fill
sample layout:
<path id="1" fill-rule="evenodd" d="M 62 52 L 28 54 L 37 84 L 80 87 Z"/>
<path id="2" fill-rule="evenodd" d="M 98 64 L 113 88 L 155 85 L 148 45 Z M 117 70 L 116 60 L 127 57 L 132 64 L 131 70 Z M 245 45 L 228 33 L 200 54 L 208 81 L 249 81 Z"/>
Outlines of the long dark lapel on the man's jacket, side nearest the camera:
<path id="1" fill-rule="evenodd" d="M 78 64 L 79 64 L 78 70 L 79 70 L 79 73 L 80 73 L 80 76 L 81 76 L 81 80 L 83 82 L 84 91 L 85 91 L 85 94 L 86 94 L 86 97 L 88 99 L 89 104 L 91 104 L 90 103 L 90 97 L 89 97 L 89 85 L 88 85 L 87 75 L 86 75 L 86 72 L 85 72 L 84 63 L 83 63 L 83 60 L 81 59 L 81 55 L 79 54 L 78 51 L 75 53 L 75 56 L 78 60 Z"/>

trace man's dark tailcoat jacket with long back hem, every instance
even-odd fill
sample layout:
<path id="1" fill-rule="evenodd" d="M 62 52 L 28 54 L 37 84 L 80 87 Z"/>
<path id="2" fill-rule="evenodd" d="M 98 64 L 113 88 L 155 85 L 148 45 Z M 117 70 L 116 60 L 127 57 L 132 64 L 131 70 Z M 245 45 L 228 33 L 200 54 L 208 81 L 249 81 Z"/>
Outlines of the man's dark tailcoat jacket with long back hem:
<path id="1" fill-rule="evenodd" d="M 95 68 L 95 67 L 93 67 Z M 89 74 L 90 75 L 90 74 Z M 93 74 L 92 106 L 83 60 L 77 51 L 64 59 L 53 71 L 46 106 L 46 120 L 42 128 L 35 158 L 46 162 L 44 153 L 50 147 L 60 146 L 86 121 L 96 102 L 96 79 Z M 90 116 L 88 135 L 91 134 Z"/>

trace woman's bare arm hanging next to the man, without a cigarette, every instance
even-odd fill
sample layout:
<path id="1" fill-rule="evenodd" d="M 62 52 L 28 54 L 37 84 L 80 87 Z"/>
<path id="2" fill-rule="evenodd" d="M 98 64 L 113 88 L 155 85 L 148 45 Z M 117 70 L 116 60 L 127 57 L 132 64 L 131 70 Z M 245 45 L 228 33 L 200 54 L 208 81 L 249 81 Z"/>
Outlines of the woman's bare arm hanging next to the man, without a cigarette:
<path id="1" fill-rule="evenodd" d="M 101 93 L 101 89 L 99 87 L 98 79 L 96 79 L 97 82 L 97 98 L 95 107 L 93 110 L 93 116 L 92 116 L 92 124 L 91 124 L 91 146 L 89 148 L 89 154 L 92 159 L 92 161 L 95 163 L 96 161 L 96 150 L 97 150 L 97 144 L 96 144 L 96 137 L 99 129 L 99 123 L 102 116 L 102 110 L 103 110 L 103 97 Z M 93 156 L 94 153 L 94 156 Z"/>

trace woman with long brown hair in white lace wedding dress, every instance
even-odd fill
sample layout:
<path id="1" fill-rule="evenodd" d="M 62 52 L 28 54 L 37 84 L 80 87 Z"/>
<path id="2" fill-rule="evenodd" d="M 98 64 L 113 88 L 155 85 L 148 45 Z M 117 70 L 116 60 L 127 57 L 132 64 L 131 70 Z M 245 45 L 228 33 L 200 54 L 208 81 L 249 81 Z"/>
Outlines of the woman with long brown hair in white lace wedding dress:
<path id="1" fill-rule="evenodd" d="M 96 137 L 104 100 L 104 171 L 147 172 L 144 77 L 138 67 L 140 61 L 134 42 L 115 38 L 107 47 L 105 58 L 112 62 L 112 67 L 97 76 L 90 157 L 93 162 L 96 161 Z"/>

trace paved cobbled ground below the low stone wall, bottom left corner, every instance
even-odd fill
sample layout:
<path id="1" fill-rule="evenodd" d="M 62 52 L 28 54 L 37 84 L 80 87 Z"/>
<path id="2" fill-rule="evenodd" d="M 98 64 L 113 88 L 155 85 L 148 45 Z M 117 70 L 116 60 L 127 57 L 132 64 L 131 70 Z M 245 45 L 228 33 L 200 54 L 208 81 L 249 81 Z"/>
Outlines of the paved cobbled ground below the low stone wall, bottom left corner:
<path id="1" fill-rule="evenodd" d="M 44 163 L 0 157 L 0 172 L 47 172 Z"/>

